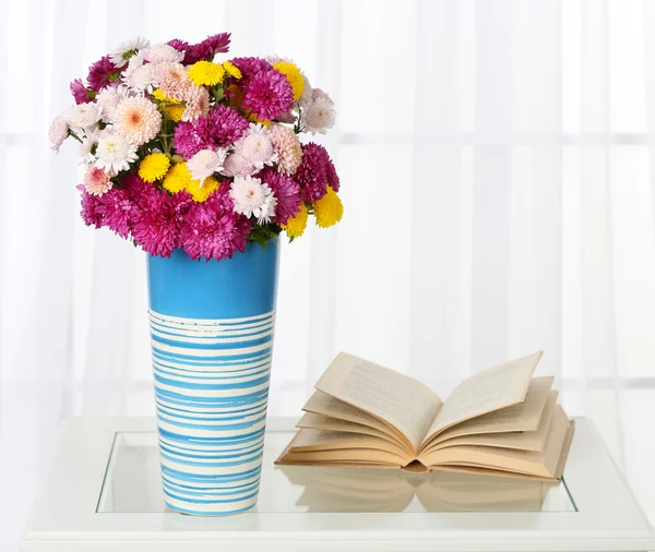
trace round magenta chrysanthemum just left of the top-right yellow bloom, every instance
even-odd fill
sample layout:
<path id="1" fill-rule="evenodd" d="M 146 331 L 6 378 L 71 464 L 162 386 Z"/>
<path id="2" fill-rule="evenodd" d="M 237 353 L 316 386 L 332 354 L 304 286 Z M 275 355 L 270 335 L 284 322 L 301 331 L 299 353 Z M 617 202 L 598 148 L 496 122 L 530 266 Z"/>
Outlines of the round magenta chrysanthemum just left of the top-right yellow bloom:
<path id="1" fill-rule="evenodd" d="M 293 104 L 291 85 L 273 68 L 258 71 L 243 84 L 242 107 L 251 109 L 260 119 L 273 120 L 288 113 Z"/>

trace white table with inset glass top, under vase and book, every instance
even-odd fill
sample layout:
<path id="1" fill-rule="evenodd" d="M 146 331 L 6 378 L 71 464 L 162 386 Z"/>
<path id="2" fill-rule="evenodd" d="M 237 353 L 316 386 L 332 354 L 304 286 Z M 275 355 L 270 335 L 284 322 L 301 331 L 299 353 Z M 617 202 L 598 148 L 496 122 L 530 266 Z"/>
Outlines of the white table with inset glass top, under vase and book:
<path id="1" fill-rule="evenodd" d="M 443 472 L 421 480 L 348 470 L 335 479 L 334 468 L 275 468 L 293 428 L 290 419 L 269 420 L 255 511 L 195 518 L 165 511 L 154 419 L 68 420 L 21 550 L 655 550 L 653 529 L 588 420 L 577 420 L 564 483 L 549 489 Z"/>

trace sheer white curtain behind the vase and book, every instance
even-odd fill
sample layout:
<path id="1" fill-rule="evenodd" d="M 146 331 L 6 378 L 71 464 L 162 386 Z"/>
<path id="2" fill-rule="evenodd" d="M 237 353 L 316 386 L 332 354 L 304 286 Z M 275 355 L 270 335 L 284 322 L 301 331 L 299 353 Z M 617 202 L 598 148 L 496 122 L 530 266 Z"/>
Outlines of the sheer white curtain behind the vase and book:
<path id="1" fill-rule="evenodd" d="M 283 249 L 272 415 L 347 350 L 446 394 L 537 349 L 655 519 L 655 4 L 0 3 L 0 547 L 62 417 L 150 415 L 144 254 L 78 217 L 68 83 L 121 40 L 230 31 L 329 91 L 343 223 Z M 4 542 L 2 540 L 4 539 Z"/>

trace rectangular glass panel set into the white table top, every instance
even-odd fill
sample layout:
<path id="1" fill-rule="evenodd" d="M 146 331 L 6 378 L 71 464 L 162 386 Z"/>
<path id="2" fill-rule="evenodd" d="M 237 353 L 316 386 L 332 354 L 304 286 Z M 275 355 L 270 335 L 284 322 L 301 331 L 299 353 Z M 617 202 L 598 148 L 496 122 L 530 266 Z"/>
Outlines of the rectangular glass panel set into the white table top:
<path id="1" fill-rule="evenodd" d="M 274 466 L 294 432 L 269 431 L 252 512 L 575 512 L 565 481 L 433 471 Z M 118 432 L 98 513 L 164 513 L 156 433 Z"/>

